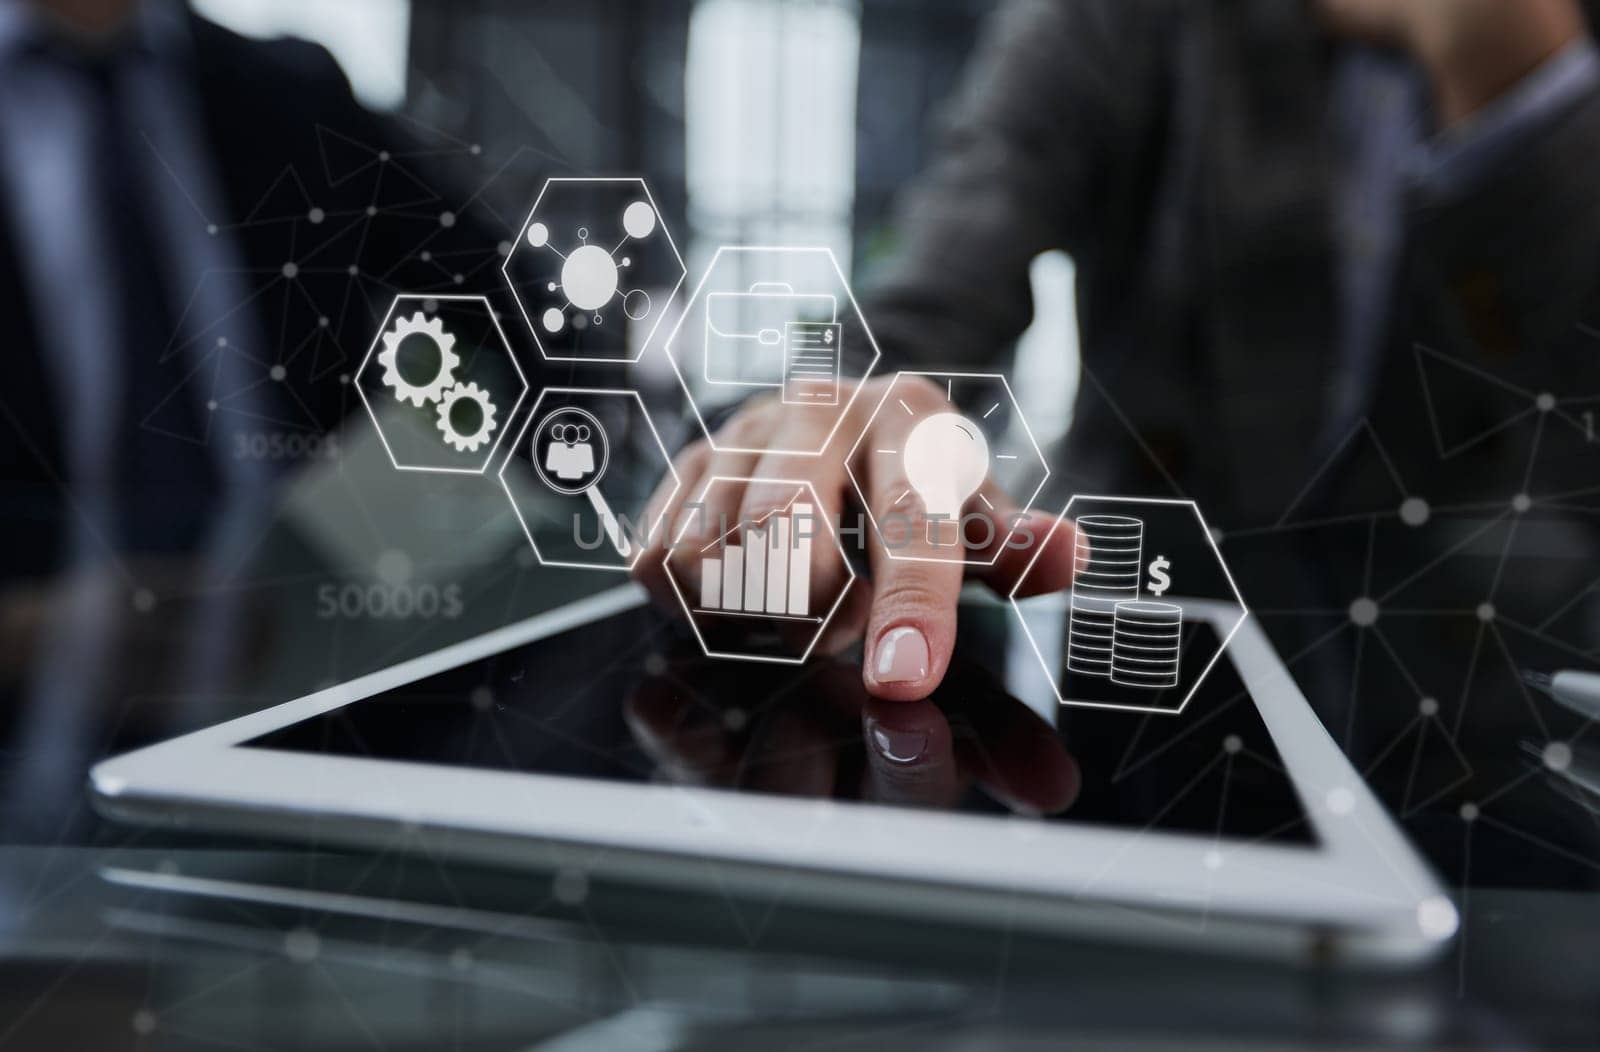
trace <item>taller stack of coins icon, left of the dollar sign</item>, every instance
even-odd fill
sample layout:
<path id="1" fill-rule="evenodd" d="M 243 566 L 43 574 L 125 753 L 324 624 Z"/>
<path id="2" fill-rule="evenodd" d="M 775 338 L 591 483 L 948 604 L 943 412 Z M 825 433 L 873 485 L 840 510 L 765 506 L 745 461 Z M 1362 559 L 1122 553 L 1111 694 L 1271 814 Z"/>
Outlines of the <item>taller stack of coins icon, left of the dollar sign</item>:
<path id="1" fill-rule="evenodd" d="M 1144 523 L 1123 515 L 1085 515 L 1077 528 L 1067 668 L 1110 676 L 1117 604 L 1139 598 Z"/>

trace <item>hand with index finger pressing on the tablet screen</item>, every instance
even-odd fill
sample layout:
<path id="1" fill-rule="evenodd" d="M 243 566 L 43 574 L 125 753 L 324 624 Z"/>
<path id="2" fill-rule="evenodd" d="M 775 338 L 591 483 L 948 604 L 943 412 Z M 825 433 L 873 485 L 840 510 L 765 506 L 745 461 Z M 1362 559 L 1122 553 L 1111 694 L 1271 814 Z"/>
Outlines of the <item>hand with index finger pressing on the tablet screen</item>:
<path id="1" fill-rule="evenodd" d="M 675 606 L 666 582 L 667 545 L 714 540 L 720 523 L 750 523 L 781 510 L 792 497 L 792 486 L 718 486 L 707 494 L 704 507 L 685 507 L 696 500 L 714 476 L 754 480 L 805 480 L 816 489 L 822 507 L 819 513 L 838 515 L 856 500 L 854 488 L 845 472 L 845 449 L 867 427 L 874 408 L 883 396 L 891 377 L 870 381 L 851 403 L 851 411 L 840 424 L 830 448 L 819 457 L 797 457 L 774 452 L 715 452 L 706 441 L 685 449 L 677 460 L 682 488 L 672 494 L 666 480 L 650 502 L 645 521 L 654 523 L 664 515 L 666 529 L 651 537 L 635 571 L 646 587 L 667 606 Z M 882 412 L 872 420 L 872 428 L 861 443 L 862 448 L 902 449 L 904 440 L 923 411 L 946 406 L 944 392 L 928 382 L 902 379 L 896 396 L 904 398 L 910 414 Z M 776 398 L 755 398 L 718 433 L 718 444 L 741 449 L 814 449 L 827 438 L 829 419 L 813 419 L 818 414 L 794 412 Z M 867 459 L 858 467 L 862 491 L 872 507 L 875 521 L 894 513 L 912 521 L 922 520 L 922 500 L 907 483 L 899 457 Z M 822 636 L 819 649 L 837 651 L 866 635 L 866 660 L 862 678 L 867 691 L 888 700 L 918 700 L 928 697 L 944 679 L 950 651 L 955 646 L 955 604 L 965 576 L 970 572 L 989 582 L 997 592 L 1010 592 L 1034 556 L 1034 572 L 1027 580 L 1027 593 L 1058 592 L 1072 584 L 1074 529 L 1056 518 L 1016 507 L 992 480 L 984 481 L 974 494 L 970 516 L 989 518 L 994 529 L 984 531 L 973 523 L 968 540 L 976 547 L 971 555 L 995 556 L 994 566 L 963 568 L 952 561 L 914 561 L 918 555 L 938 553 L 922 529 L 912 531 L 904 544 L 896 539 L 896 555 L 890 558 L 882 539 L 869 537 L 872 580 L 858 582 L 845 604 L 834 616 Z M 1014 529 L 1013 529 L 1014 526 Z M 683 531 L 688 529 L 688 534 Z M 1038 545 L 1050 544 L 1043 552 Z M 1008 544 L 1008 539 L 1013 539 Z M 910 556 L 910 558 L 907 558 Z M 813 550 L 813 593 L 834 595 L 843 585 L 845 569 L 837 558 L 829 558 L 821 545 Z"/>

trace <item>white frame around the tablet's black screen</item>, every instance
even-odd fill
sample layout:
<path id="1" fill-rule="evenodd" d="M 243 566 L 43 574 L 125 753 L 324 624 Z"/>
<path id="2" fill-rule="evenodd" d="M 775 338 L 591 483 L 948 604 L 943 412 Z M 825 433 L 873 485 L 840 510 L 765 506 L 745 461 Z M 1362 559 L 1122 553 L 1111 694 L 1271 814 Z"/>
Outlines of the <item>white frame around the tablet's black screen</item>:
<path id="1" fill-rule="evenodd" d="M 717 862 L 715 879 L 731 884 L 771 887 L 773 873 L 782 871 L 782 894 L 794 897 L 974 919 L 1003 908 L 1014 922 L 1109 924 L 1130 935 L 1235 950 L 1328 948 L 1338 940 L 1352 959 L 1421 961 L 1454 934 L 1450 899 L 1253 617 L 1227 652 L 1301 798 L 1315 846 L 235 748 L 643 601 L 637 585 L 611 588 L 109 759 L 90 775 L 96 806 L 133 822 L 326 844 L 394 846 L 402 838 L 496 865 L 544 867 L 554 857 L 549 847 L 578 847 L 600 870 L 690 884 L 704 883 L 707 863 Z M 1189 608 L 1213 622 L 1232 611 Z M 813 875 L 824 879 L 803 879 Z M 1298 937 L 1285 938 L 1285 926 Z"/>

